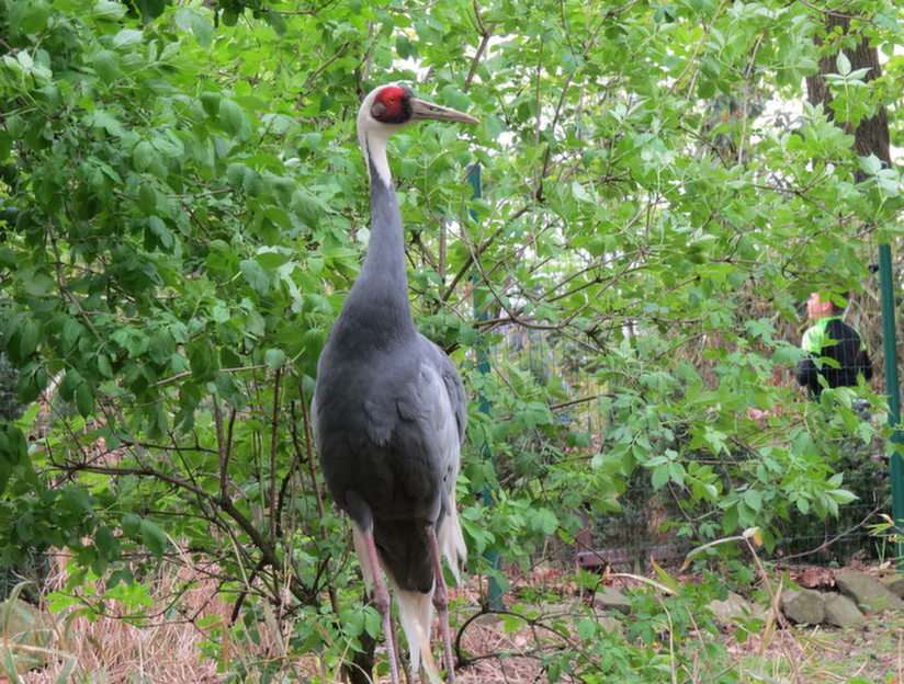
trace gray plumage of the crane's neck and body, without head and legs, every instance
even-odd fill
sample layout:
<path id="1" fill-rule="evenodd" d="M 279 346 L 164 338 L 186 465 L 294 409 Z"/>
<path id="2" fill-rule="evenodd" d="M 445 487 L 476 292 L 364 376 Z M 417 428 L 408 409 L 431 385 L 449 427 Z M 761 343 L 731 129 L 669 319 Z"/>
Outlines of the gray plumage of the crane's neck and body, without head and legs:
<path id="1" fill-rule="evenodd" d="M 427 593 L 427 524 L 454 501 L 466 404 L 447 354 L 411 318 L 395 192 L 371 164 L 368 255 L 317 366 L 313 417 L 327 486 L 403 590 Z"/>

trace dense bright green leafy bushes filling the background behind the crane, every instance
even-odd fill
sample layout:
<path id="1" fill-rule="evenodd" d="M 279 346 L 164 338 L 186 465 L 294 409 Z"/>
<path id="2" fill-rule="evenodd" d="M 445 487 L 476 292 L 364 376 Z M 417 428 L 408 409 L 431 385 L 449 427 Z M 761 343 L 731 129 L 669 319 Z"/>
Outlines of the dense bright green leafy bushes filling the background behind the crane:
<path id="1" fill-rule="evenodd" d="M 178 540 L 250 594 L 246 625 L 256 596 L 304 615 L 297 651 L 335 664 L 375 628 L 306 407 L 368 239 L 354 114 L 389 80 L 482 118 L 391 145 L 418 322 L 488 404 L 460 483 L 473 570 L 569 540 L 580 513 L 604 523 L 637 474 L 692 539 L 758 525 L 771 547 L 792 514 L 837 514 L 838 446 L 875 426 L 850 392 L 814 404 L 776 378 L 806 294 L 869 288 L 877 242 L 897 241 L 900 168 L 844 127 L 884 105 L 901 145 L 904 58 L 894 2 L 835 4 L 867 21 L 826 36 L 778 0 L 0 0 L 2 349 L 31 404 L 0 428 L 0 560 L 68 547 L 72 594 L 106 575 L 137 609 L 132 554 Z M 860 36 L 885 71 L 839 58 L 833 123 L 803 79 Z M 519 328 L 570 384 L 505 351 Z M 560 420 L 587 397 L 601 438 Z M 580 636 L 551 671 L 602 653 Z M 587 682 L 637 670 L 586 662 Z"/>

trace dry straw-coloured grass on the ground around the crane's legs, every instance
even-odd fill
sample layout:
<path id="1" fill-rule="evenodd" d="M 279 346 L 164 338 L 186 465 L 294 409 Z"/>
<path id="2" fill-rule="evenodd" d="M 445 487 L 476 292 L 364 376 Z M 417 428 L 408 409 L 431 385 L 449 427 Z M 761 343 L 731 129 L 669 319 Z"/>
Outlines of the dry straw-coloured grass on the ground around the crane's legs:
<path id="1" fill-rule="evenodd" d="M 47 593 L 65 585 L 67 573 L 66 557 L 59 556 L 54 575 L 48 582 Z M 157 608 L 140 624 L 123 619 L 124 606 L 115 601 L 105 605 L 106 614 L 89 618 L 79 611 L 68 611 L 57 616 L 55 639 L 48 653 L 57 654 L 49 664 L 21 675 L 29 684 L 56 684 L 70 673 L 69 681 L 103 682 L 104 684 L 154 682 L 161 684 L 204 684 L 223 681 L 217 672 L 217 663 L 205 658 L 200 646 L 210 638 L 210 628 L 199 623 L 205 618 L 218 618 L 225 625 L 229 619 L 231 605 L 217 594 L 217 581 L 196 566 L 169 563 L 151 581 L 151 592 Z M 101 581 L 94 583 L 98 594 L 104 591 Z M 476 582 L 460 590 L 452 590 L 456 601 L 453 623 L 462 624 L 474 614 L 477 596 Z M 285 653 L 285 626 L 268 619 L 259 625 L 261 641 L 251 645 L 228 642 L 219 656 L 228 664 L 242 661 L 246 666 L 268 660 L 280 660 Z M 434 635 L 436 636 L 436 635 Z M 438 641 L 437 641 L 438 642 Z M 506 632 L 493 616 L 476 619 L 462 640 L 465 652 L 476 658 L 476 662 L 459 671 L 462 684 L 504 684 L 541 681 L 541 670 L 535 659 L 512 653 L 527 652 L 532 639 L 526 631 Z M 505 653 L 505 658 L 481 658 L 494 653 Z M 377 660 L 383 658 L 378 653 Z M 75 668 L 72 668 L 75 663 Z M 284 670 L 293 681 L 306 681 L 318 672 L 320 663 L 314 658 L 302 658 L 294 662 L 285 660 Z M 384 681 L 384 680 L 381 680 Z M 388 681 L 388 680 L 385 680 Z M 4 680 L 0 676 L 0 683 Z M 337 680 L 338 682 L 338 680 Z"/>

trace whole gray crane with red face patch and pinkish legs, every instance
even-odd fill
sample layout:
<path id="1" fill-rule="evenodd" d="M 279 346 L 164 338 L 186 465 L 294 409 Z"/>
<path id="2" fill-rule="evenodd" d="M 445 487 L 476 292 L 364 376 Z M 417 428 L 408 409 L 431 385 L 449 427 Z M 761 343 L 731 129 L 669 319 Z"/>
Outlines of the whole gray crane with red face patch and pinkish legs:
<path id="1" fill-rule="evenodd" d="M 352 523 L 364 581 L 383 619 L 393 684 L 398 664 L 381 568 L 393 585 L 411 671 L 439 671 L 430 650 L 436 607 L 447 677 L 454 682 L 444 557 L 455 577 L 465 545 L 455 479 L 466 422 L 459 373 L 411 317 L 405 236 L 386 158 L 392 134 L 423 119 L 477 123 L 397 84 L 373 90 L 358 113 L 371 182 L 368 255 L 317 365 L 312 415 L 327 486 Z"/>

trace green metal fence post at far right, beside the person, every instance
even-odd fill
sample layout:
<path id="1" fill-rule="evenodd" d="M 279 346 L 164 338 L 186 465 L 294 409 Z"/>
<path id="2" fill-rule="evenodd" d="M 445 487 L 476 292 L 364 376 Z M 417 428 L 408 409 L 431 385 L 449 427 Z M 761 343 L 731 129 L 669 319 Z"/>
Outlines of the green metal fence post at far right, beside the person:
<path id="1" fill-rule="evenodd" d="M 889 468 L 892 479 L 892 516 L 896 535 L 904 534 L 904 461 L 901 447 L 904 432 L 901 430 L 901 388 L 897 384 L 897 340 L 894 326 L 894 280 L 892 275 L 892 248 L 879 246 L 879 286 L 882 292 L 882 351 L 885 356 L 885 391 L 889 395 L 889 425 L 892 428 L 892 456 Z M 904 572 L 904 544 L 895 548 L 897 569 Z"/>

